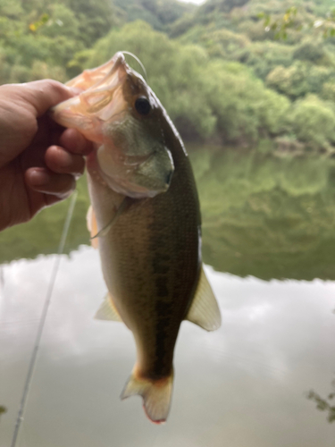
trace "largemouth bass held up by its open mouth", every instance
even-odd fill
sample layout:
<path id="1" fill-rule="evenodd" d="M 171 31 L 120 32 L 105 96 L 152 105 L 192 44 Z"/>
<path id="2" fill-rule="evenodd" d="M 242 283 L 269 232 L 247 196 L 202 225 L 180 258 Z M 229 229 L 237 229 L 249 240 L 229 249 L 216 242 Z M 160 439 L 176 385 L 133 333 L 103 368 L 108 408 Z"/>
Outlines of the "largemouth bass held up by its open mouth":
<path id="1" fill-rule="evenodd" d="M 88 230 L 108 289 L 96 318 L 132 332 L 137 360 L 121 399 L 141 396 L 147 417 L 161 424 L 181 322 L 221 325 L 202 264 L 196 181 L 172 120 L 122 52 L 67 85 L 78 95 L 51 115 L 94 142 Z"/>

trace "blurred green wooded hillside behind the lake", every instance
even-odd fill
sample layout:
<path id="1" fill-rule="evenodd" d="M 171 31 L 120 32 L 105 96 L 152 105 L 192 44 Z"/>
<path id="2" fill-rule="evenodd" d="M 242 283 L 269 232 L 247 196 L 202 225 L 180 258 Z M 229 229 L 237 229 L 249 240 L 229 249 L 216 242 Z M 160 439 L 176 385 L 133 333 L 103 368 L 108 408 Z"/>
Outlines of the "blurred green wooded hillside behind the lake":
<path id="1" fill-rule="evenodd" d="M 0 82 L 66 81 L 127 50 L 146 66 L 187 142 L 331 155 L 332 7 L 331 0 L 0 0 Z"/>

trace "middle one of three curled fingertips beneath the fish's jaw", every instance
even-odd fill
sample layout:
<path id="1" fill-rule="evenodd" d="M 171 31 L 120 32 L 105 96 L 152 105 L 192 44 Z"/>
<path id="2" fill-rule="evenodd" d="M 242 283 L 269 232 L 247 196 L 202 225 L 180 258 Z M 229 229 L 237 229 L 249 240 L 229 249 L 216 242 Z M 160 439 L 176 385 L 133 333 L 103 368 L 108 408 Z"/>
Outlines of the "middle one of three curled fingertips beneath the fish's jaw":
<path id="1" fill-rule="evenodd" d="M 71 154 L 60 146 L 47 148 L 45 161 L 46 166 L 54 173 L 70 173 L 75 177 L 80 177 L 84 173 L 84 157 Z"/>

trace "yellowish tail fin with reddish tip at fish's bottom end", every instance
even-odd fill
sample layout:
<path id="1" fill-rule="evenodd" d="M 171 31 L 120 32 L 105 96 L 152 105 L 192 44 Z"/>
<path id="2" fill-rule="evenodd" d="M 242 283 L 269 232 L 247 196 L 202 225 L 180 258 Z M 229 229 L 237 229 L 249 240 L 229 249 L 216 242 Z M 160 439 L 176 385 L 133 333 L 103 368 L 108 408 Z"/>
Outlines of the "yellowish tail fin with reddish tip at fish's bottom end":
<path id="1" fill-rule="evenodd" d="M 154 424 L 162 424 L 168 417 L 172 397 L 173 373 L 162 379 L 139 378 L 134 374 L 121 393 L 121 399 L 138 394 L 143 398 L 143 409 Z"/>

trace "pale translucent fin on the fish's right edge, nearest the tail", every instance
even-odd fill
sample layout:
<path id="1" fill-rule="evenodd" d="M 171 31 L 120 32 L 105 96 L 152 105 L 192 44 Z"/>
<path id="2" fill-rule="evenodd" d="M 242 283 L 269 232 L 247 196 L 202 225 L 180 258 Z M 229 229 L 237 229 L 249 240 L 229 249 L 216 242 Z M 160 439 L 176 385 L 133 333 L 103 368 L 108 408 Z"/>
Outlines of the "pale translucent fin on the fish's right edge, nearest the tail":
<path id="1" fill-rule="evenodd" d="M 201 268 L 197 291 L 185 318 L 206 331 L 215 331 L 221 326 L 221 314 L 212 287 Z"/>

